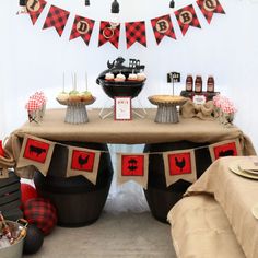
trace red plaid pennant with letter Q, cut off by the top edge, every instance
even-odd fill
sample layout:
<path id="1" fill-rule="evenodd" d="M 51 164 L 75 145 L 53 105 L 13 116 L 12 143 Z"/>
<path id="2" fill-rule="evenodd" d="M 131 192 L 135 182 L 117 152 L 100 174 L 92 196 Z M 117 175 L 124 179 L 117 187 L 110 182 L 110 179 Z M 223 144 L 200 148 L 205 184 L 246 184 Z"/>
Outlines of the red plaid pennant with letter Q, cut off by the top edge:
<path id="1" fill-rule="evenodd" d="M 198 0 L 197 4 L 207 19 L 208 23 L 211 23 L 213 13 L 225 13 L 218 0 Z"/>

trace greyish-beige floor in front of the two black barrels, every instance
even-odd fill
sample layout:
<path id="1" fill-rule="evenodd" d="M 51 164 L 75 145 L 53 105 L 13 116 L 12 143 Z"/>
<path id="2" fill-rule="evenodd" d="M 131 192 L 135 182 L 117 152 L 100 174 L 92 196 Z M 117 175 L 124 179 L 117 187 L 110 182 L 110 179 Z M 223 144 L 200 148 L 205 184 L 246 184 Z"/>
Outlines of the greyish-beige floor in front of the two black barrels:
<path id="1" fill-rule="evenodd" d="M 103 211 L 93 224 L 56 226 L 35 255 L 24 258 L 176 258 L 169 225 L 150 212 L 113 214 Z"/>

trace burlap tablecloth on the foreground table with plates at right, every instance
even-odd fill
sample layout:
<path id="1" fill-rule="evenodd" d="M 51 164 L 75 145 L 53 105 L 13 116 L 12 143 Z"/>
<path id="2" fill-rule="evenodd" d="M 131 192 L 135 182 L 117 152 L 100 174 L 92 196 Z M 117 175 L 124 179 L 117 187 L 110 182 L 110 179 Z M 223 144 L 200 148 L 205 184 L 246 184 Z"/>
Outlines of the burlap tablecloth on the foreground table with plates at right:
<path id="1" fill-rule="evenodd" d="M 185 195 L 213 195 L 225 212 L 245 256 L 257 258 L 258 220 L 251 214 L 251 208 L 258 203 L 258 180 L 244 178 L 230 171 L 228 165 L 237 159 L 248 157 L 219 159 Z"/>

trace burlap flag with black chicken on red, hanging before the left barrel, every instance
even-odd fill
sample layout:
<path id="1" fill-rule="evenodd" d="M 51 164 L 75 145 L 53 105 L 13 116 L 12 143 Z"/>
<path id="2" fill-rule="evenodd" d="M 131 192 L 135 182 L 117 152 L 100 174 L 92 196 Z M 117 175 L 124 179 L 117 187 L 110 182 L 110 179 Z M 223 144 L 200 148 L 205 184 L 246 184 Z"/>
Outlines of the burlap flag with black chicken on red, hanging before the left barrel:
<path id="1" fill-rule="evenodd" d="M 67 177 L 82 175 L 96 185 L 99 165 L 99 151 L 68 146 Z"/>

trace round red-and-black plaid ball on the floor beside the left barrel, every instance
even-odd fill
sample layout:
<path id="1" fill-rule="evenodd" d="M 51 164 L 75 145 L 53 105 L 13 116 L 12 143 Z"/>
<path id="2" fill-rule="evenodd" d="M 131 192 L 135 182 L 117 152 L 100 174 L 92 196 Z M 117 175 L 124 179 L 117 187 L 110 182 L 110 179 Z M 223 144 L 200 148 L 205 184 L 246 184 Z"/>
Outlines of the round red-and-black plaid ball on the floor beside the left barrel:
<path id="1" fill-rule="evenodd" d="M 30 199 L 23 207 L 24 219 L 42 230 L 44 235 L 51 233 L 57 224 L 57 210 L 54 204 L 44 198 Z"/>

